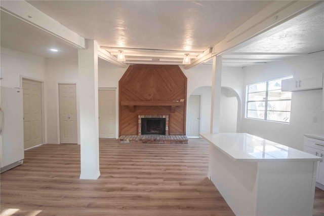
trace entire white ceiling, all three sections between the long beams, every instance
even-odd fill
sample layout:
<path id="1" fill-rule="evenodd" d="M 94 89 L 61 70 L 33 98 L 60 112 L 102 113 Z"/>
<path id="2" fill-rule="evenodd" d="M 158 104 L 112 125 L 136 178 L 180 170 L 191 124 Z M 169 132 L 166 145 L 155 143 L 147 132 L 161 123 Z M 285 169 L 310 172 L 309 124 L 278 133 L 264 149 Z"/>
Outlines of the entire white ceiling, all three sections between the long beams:
<path id="1" fill-rule="evenodd" d="M 221 41 L 269 1 L 28 1 L 29 4 L 126 63 L 181 64 Z M 324 49 L 324 4 L 223 55 L 225 66 L 250 66 Z M 261 35 L 262 36 L 262 35 Z M 7 13 L 1 13 L 1 46 L 52 57 L 76 56 L 65 42 Z M 49 52 L 56 47 L 59 52 Z M 154 51 L 140 50 L 154 49 Z M 168 53 L 157 50 L 176 50 Z M 290 55 L 288 55 L 289 53 Z M 147 55 L 146 55 L 147 54 Z M 133 60 L 132 60 L 133 59 Z M 206 64 L 210 64 L 207 62 Z"/>

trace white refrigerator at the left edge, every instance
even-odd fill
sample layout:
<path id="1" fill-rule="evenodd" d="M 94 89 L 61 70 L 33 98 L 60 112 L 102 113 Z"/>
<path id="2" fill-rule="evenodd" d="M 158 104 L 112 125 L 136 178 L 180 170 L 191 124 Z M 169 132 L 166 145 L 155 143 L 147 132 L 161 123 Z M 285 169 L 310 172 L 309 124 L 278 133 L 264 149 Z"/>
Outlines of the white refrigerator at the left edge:
<path id="1" fill-rule="evenodd" d="M 24 123 L 22 89 L 1 87 L 0 91 L 0 172 L 2 173 L 23 163 Z"/>

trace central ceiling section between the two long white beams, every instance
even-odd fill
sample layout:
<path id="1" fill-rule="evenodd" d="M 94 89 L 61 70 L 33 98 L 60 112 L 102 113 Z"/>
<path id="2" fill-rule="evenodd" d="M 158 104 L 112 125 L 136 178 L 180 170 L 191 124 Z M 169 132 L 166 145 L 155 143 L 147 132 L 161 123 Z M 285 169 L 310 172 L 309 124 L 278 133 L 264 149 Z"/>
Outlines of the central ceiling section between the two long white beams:
<path id="1" fill-rule="evenodd" d="M 270 1 L 27 1 L 100 46 L 204 51 Z"/>

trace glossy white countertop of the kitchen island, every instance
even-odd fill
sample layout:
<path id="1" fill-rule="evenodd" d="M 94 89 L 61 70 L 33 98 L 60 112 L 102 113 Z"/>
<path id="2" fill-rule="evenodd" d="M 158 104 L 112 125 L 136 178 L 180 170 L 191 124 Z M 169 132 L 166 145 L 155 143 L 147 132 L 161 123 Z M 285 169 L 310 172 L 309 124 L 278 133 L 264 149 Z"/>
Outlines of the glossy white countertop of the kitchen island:
<path id="1" fill-rule="evenodd" d="M 235 161 L 320 161 L 321 158 L 248 133 L 200 134 Z"/>

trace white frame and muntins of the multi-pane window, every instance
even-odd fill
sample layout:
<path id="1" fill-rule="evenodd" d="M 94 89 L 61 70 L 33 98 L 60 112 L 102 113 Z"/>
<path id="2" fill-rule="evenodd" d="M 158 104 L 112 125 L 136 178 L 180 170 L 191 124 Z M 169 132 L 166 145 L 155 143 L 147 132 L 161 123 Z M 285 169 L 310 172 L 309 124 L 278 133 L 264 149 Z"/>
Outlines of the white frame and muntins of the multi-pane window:
<path id="1" fill-rule="evenodd" d="M 272 81 L 275 81 L 275 80 L 286 80 L 286 79 L 290 79 L 290 78 L 293 78 L 293 76 L 289 76 L 289 77 L 284 77 L 284 78 L 277 78 L 277 79 L 274 79 L 274 80 L 268 80 L 268 81 L 264 81 L 264 82 L 259 82 L 259 83 L 254 83 L 254 84 L 250 84 L 250 85 L 247 85 L 246 86 L 246 109 L 245 109 L 245 118 L 246 119 L 254 119 L 254 120 L 261 120 L 261 121 L 268 121 L 268 122 L 278 122 L 278 123 L 285 123 L 285 124 L 290 124 L 290 120 L 289 122 L 285 122 L 285 121 L 276 121 L 276 120 L 268 120 L 268 102 L 269 101 L 292 101 L 292 96 L 290 99 L 278 99 L 278 100 L 269 100 L 269 82 L 272 82 Z M 258 84 L 261 84 L 261 83 L 265 83 L 266 84 L 266 88 L 265 88 L 265 91 L 256 91 L 256 92 L 251 92 L 251 93 L 260 93 L 260 92 L 265 92 L 265 99 L 264 100 L 249 100 L 249 87 L 252 86 L 252 85 L 258 85 Z M 282 87 L 282 86 L 281 86 Z M 280 90 L 281 91 L 281 87 L 280 89 L 275 89 L 275 90 Z M 273 91 L 273 90 L 270 90 L 270 91 Z M 285 91 L 281 91 L 281 92 L 285 92 Z M 287 91 L 286 91 L 287 92 Z M 264 102 L 264 110 L 249 110 L 249 102 Z M 264 117 L 263 119 L 258 119 L 258 118 L 252 118 L 252 117 L 248 117 L 248 111 L 263 111 L 264 112 Z M 270 112 L 287 112 L 287 113 L 290 113 L 291 114 L 291 109 L 290 111 L 270 111 Z"/>

